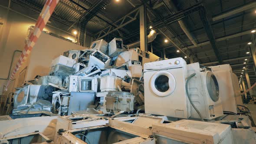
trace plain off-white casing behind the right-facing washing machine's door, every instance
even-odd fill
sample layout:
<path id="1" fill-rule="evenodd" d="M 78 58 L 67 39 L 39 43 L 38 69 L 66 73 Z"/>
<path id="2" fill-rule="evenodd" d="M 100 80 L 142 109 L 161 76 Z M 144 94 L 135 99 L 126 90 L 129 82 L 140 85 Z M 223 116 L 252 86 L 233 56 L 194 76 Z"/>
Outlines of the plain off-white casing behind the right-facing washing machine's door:
<path id="1" fill-rule="evenodd" d="M 210 66 L 217 78 L 223 111 L 236 111 L 236 99 L 232 84 L 232 69 L 229 64 Z"/>

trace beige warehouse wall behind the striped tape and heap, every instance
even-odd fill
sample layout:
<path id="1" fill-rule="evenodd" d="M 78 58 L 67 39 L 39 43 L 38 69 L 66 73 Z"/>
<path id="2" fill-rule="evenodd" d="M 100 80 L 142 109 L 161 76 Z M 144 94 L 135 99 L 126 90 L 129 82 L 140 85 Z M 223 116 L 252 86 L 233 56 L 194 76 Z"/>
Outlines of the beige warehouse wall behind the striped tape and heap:
<path id="1" fill-rule="evenodd" d="M 13 53 L 15 50 L 23 50 L 27 30 L 29 26 L 35 25 L 36 21 L 13 11 L 9 11 L 7 14 L 7 9 L 0 7 L 0 23 L 3 23 L 3 25 L 0 25 L 0 95 L 2 95 L 3 85 L 6 85 L 7 83 L 6 79 L 8 78 Z M 66 38 L 74 37 L 70 33 L 65 33 L 50 26 L 46 26 L 46 29 L 44 30 Z M 12 92 L 13 88 L 20 83 L 18 82 L 19 79 L 20 81 L 23 80 L 24 76 L 26 76 L 26 79 L 30 79 L 36 75 L 36 72 L 39 72 L 41 75 L 47 74 L 49 70 L 49 67 L 47 69 L 47 65 L 49 65 L 52 59 L 62 54 L 63 51 L 66 51 L 67 49 L 82 49 L 78 45 L 50 35 L 42 34 L 41 37 L 31 53 L 31 59 L 28 60 L 30 63 L 26 62 L 20 68 L 16 73 L 16 79 L 12 81 L 9 90 L 3 95 Z M 93 39 L 90 36 L 86 36 L 86 39 L 86 46 L 89 46 Z M 21 53 L 17 51 L 14 53 L 13 65 L 10 72 L 13 72 L 13 68 L 15 67 L 20 54 Z"/>

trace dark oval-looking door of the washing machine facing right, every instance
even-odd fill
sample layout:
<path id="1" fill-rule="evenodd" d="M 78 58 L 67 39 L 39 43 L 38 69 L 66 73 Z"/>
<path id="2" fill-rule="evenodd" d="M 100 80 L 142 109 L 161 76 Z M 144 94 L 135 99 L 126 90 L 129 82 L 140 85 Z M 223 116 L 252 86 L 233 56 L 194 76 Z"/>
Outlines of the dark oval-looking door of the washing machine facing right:
<path id="1" fill-rule="evenodd" d="M 206 85 L 207 85 L 207 90 L 210 95 L 210 98 L 215 102 L 218 101 L 220 98 L 219 85 L 213 72 L 210 72 L 210 71 L 207 72 Z"/>

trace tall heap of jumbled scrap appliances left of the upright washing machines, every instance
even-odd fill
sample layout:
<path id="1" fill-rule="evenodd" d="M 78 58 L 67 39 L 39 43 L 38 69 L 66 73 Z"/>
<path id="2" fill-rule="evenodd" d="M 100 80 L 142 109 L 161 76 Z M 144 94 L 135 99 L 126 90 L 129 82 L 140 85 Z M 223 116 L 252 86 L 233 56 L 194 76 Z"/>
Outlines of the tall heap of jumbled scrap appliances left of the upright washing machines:
<path id="1" fill-rule="evenodd" d="M 12 112 L 71 115 L 91 108 L 105 114 L 131 113 L 144 106 L 141 77 L 146 62 L 148 52 L 128 49 L 119 38 L 66 51 L 53 59 L 49 75 L 37 75 L 17 88 Z"/>

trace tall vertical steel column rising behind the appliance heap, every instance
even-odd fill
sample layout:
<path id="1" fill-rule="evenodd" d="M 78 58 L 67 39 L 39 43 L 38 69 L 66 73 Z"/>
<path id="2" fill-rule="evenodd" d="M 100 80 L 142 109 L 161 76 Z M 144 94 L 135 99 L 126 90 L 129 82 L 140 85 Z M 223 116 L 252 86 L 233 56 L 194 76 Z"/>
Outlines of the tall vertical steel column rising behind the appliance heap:
<path id="1" fill-rule="evenodd" d="M 147 37 L 147 8 L 142 5 L 140 8 L 140 45 L 141 50 L 148 52 L 148 37 Z"/>

